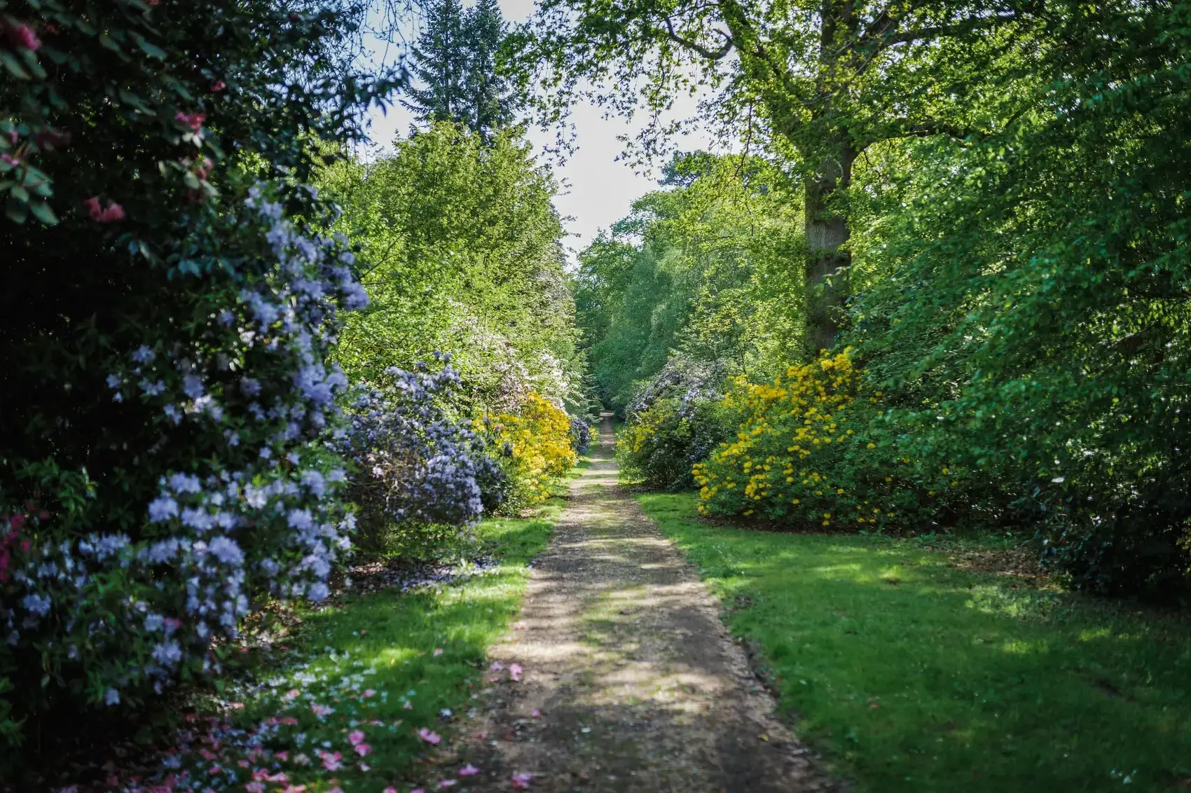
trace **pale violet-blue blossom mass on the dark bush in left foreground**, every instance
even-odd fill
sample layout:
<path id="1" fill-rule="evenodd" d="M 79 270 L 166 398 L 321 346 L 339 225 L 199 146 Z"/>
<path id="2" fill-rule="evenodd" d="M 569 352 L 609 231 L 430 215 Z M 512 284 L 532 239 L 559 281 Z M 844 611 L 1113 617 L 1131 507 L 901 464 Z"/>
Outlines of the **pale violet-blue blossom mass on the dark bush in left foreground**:
<path id="1" fill-rule="evenodd" d="M 350 549 L 355 516 L 330 449 L 347 437 L 347 379 L 325 361 L 338 311 L 367 296 L 342 238 L 300 232 L 261 188 L 245 210 L 235 239 L 255 269 L 204 343 L 146 339 L 106 379 L 113 400 L 158 417 L 162 447 L 202 438 L 201 452 L 161 476 L 141 526 L 35 544 L 12 573 L 17 597 L 0 601 L 7 642 L 69 644 L 94 701 L 211 670 L 212 639 L 235 637 L 254 601 L 325 598 Z"/>

